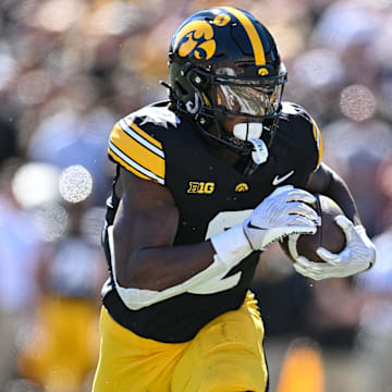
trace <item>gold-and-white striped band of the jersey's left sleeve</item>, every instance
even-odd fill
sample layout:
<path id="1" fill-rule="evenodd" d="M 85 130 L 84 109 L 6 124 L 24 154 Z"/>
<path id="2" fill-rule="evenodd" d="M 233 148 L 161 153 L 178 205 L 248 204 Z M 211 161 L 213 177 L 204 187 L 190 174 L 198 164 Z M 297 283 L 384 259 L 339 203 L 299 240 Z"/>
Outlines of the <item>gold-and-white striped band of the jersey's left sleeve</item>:
<path id="1" fill-rule="evenodd" d="M 162 144 L 132 119 L 124 118 L 114 125 L 108 154 L 114 162 L 138 177 L 164 184 Z"/>

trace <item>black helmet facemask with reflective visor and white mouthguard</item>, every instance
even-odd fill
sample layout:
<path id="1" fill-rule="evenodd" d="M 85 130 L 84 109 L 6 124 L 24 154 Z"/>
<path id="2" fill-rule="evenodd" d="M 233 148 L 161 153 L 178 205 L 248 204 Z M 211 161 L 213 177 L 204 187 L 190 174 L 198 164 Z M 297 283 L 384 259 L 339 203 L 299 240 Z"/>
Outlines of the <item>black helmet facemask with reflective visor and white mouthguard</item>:
<path id="1" fill-rule="evenodd" d="M 231 68 L 220 68 L 215 73 L 193 68 L 188 74 L 188 83 L 193 86 L 195 101 L 188 102 L 186 111 L 196 109 L 195 120 L 203 133 L 220 142 L 226 148 L 248 156 L 253 152 L 257 164 L 261 158 L 260 148 L 266 155 L 271 145 L 281 113 L 281 97 L 286 73 L 279 76 L 248 78 L 235 76 Z M 236 120 L 231 132 L 222 126 L 223 121 Z M 243 120 L 240 123 L 238 120 Z"/>

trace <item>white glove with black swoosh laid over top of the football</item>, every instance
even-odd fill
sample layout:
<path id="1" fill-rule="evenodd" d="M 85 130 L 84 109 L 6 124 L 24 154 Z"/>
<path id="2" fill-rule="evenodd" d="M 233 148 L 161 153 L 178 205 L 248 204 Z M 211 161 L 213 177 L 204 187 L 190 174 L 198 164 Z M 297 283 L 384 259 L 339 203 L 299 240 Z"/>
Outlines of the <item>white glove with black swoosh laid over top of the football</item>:
<path id="1" fill-rule="evenodd" d="M 294 233 L 315 234 L 321 220 L 305 204 L 315 201 L 315 196 L 292 185 L 278 187 L 244 221 L 244 232 L 252 248 L 264 250 L 274 241 Z"/>

